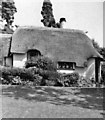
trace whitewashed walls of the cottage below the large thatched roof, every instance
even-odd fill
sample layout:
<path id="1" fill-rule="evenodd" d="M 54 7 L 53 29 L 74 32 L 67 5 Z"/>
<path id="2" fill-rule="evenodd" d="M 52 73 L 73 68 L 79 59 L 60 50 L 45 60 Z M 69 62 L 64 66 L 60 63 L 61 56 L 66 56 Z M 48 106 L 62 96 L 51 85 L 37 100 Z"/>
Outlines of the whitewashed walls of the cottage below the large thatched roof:
<path id="1" fill-rule="evenodd" d="M 23 68 L 27 60 L 27 54 L 13 54 L 13 67 Z M 88 61 L 88 66 L 85 68 L 76 67 L 75 70 L 58 70 L 60 73 L 78 72 L 81 76 L 86 78 L 95 77 L 95 59 Z"/>

